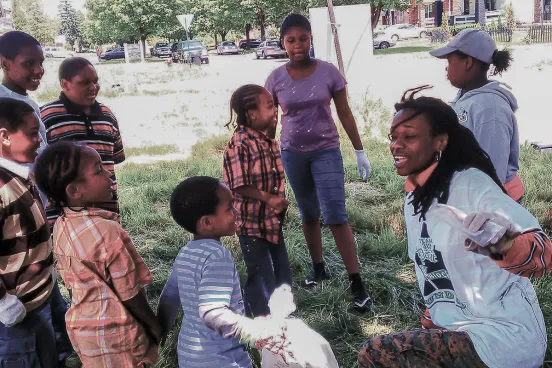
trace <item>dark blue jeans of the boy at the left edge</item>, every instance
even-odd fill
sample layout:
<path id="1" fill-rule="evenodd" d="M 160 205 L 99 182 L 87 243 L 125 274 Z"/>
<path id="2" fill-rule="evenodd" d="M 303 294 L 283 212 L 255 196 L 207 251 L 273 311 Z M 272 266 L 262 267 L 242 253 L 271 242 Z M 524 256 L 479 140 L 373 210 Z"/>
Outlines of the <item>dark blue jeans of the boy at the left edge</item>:
<path id="1" fill-rule="evenodd" d="M 57 368 L 73 347 L 67 336 L 67 305 L 55 283 L 48 299 L 13 327 L 0 323 L 1 368 Z"/>

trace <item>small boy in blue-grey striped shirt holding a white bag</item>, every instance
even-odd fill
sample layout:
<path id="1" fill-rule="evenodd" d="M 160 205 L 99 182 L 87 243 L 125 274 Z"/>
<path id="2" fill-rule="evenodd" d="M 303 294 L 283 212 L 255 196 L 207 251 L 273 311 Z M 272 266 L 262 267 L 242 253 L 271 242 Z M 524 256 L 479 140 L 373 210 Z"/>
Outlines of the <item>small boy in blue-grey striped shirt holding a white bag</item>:
<path id="1" fill-rule="evenodd" d="M 159 300 L 163 335 L 174 325 L 182 305 L 180 367 L 252 367 L 240 339 L 262 348 L 281 332 L 269 318 L 252 320 L 243 315 L 236 264 L 220 242 L 236 231 L 232 192 L 215 178 L 188 178 L 174 190 L 170 208 L 174 220 L 194 238 L 176 257 Z"/>

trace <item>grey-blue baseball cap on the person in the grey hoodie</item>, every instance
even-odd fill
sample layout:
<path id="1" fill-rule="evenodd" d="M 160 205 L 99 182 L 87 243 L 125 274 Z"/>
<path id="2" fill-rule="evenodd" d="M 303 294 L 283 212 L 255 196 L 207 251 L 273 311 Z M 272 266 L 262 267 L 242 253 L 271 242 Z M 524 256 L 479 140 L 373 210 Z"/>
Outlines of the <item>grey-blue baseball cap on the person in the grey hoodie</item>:
<path id="1" fill-rule="evenodd" d="M 458 33 L 445 47 L 432 50 L 429 54 L 444 59 L 447 55 L 460 51 L 486 64 L 492 64 L 496 50 L 496 43 L 487 32 L 470 28 Z"/>

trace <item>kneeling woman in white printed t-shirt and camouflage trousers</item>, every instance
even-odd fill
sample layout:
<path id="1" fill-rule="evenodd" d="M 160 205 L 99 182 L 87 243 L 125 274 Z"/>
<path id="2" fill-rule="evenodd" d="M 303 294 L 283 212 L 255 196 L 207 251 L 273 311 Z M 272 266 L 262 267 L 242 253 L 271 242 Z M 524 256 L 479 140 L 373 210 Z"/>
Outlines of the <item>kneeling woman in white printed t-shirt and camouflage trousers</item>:
<path id="1" fill-rule="evenodd" d="M 359 366 L 539 367 L 546 329 L 528 277 L 550 269 L 550 241 L 505 193 L 489 156 L 454 110 L 414 97 L 423 88 L 407 91 L 410 97 L 396 105 L 390 150 L 397 173 L 407 177 L 408 254 L 434 324 L 374 336 Z M 442 210 L 448 208 L 438 203 L 468 215 L 447 220 Z M 489 227 L 496 233 L 486 247 L 464 235 Z"/>

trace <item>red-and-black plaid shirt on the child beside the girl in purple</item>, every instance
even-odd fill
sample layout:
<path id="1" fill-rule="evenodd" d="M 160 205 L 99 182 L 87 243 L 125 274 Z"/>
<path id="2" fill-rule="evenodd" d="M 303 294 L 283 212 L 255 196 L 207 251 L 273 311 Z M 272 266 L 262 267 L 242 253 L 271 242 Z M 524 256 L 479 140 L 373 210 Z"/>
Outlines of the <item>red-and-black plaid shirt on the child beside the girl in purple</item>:
<path id="1" fill-rule="evenodd" d="M 284 166 L 276 140 L 262 132 L 241 126 L 224 152 L 223 175 L 232 190 L 251 186 L 285 197 Z M 282 216 L 265 203 L 236 193 L 238 235 L 264 238 L 278 244 Z"/>

